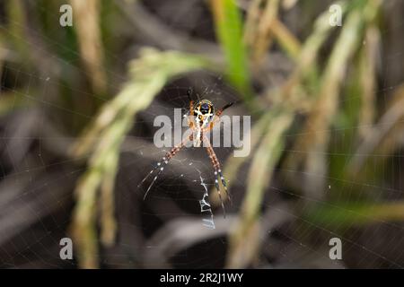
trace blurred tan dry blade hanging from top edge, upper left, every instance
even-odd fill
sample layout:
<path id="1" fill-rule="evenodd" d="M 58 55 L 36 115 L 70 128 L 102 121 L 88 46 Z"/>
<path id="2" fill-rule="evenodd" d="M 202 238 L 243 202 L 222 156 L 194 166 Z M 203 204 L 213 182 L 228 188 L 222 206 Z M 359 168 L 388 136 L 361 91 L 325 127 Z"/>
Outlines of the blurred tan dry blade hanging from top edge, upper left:
<path id="1" fill-rule="evenodd" d="M 101 43 L 100 4 L 98 0 L 70 0 L 74 10 L 75 30 L 84 69 L 92 83 L 92 91 L 102 94 L 106 88 L 104 55 Z"/>

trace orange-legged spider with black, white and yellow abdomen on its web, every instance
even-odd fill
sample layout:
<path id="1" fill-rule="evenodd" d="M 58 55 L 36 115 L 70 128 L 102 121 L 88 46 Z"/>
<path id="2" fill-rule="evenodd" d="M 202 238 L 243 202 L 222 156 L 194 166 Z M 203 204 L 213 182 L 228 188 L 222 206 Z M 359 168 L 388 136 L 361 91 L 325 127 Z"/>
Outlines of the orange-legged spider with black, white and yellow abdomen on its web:
<path id="1" fill-rule="evenodd" d="M 214 151 L 210 141 L 206 137 L 206 134 L 208 134 L 213 129 L 215 124 L 220 121 L 220 116 L 222 115 L 224 109 L 231 107 L 233 105 L 233 102 L 230 102 L 230 103 L 224 105 L 224 107 L 222 109 L 217 109 L 215 111 L 215 107 L 210 100 L 200 100 L 198 97 L 198 102 L 194 105 L 194 101 L 192 100 L 192 90 L 191 89 L 189 89 L 187 91 L 187 96 L 189 98 L 189 114 L 187 114 L 187 119 L 188 119 L 189 128 L 191 129 L 192 133 L 189 135 L 188 138 L 184 139 L 181 143 L 175 145 L 171 149 L 170 152 L 167 152 L 162 157 L 162 161 L 157 162 L 154 169 L 152 169 L 147 174 L 147 176 L 141 181 L 139 186 L 141 186 L 145 182 L 145 180 L 154 173 L 155 170 L 158 170 L 157 174 L 153 178 L 152 183 L 150 184 L 150 186 L 147 188 L 147 190 L 145 192 L 145 196 L 144 196 L 144 199 L 145 199 L 149 190 L 154 185 L 154 182 L 159 177 L 159 175 L 162 173 L 162 170 L 164 170 L 165 166 L 169 163 L 169 161 L 178 152 L 180 152 L 180 150 L 187 143 L 193 142 L 193 145 L 195 147 L 200 147 L 201 144 L 203 144 L 206 147 L 206 152 L 209 155 L 210 161 L 215 170 L 215 187 L 216 187 L 216 191 L 219 196 L 219 199 L 220 199 L 220 203 L 222 204 L 222 209 L 224 211 L 224 217 L 225 217 L 224 201 L 222 199 L 222 194 L 220 192 L 219 179 L 222 182 L 222 185 L 224 187 L 224 192 L 230 202 L 231 202 L 231 198 L 227 192 L 226 180 L 222 174 L 222 170 L 220 168 L 220 162 L 217 159 L 215 151 Z"/>

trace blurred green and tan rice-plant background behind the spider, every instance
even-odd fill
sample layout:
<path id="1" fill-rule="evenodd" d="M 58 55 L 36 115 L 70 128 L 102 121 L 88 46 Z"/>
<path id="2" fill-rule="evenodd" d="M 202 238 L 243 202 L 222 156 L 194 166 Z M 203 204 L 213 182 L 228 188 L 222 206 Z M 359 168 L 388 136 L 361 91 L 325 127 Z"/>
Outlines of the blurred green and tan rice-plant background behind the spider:
<path id="1" fill-rule="evenodd" d="M 403 267 L 403 15 L 399 0 L 0 1 L 0 266 Z M 225 218 L 203 149 L 138 187 L 167 152 L 154 117 L 186 113 L 189 88 L 251 117 L 248 157 L 215 148 Z"/>

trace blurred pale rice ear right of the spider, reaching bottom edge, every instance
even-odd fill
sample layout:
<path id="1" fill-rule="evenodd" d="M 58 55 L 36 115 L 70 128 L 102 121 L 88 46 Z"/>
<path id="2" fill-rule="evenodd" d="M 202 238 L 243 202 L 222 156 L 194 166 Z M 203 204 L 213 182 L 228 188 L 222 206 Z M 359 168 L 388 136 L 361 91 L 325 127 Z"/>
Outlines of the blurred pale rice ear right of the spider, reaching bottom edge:
<path id="1" fill-rule="evenodd" d="M 272 115 L 267 133 L 259 144 L 250 166 L 248 192 L 242 203 L 240 223 L 234 226 L 230 235 L 226 264 L 229 268 L 247 266 L 259 247 L 259 208 L 282 153 L 282 136 L 294 119 L 294 113 L 289 110 L 272 111 Z"/>

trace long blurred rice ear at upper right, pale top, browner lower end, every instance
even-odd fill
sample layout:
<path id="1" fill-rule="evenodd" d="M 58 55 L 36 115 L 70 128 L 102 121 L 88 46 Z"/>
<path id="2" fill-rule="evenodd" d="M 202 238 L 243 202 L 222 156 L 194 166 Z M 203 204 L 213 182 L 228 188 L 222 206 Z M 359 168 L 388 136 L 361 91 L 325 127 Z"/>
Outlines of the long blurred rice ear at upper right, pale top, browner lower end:
<path id="1" fill-rule="evenodd" d="M 312 107 L 302 134 L 297 138 L 294 150 L 302 151 L 302 156 L 288 159 L 289 167 L 295 170 L 299 161 L 304 161 L 308 182 L 306 190 L 319 190 L 324 177 L 319 175 L 326 170 L 325 152 L 329 143 L 329 126 L 338 109 L 338 94 L 349 58 L 358 44 L 357 35 L 362 27 L 361 14 L 354 11 L 347 22 L 329 57 L 317 101 Z M 312 177 L 311 177 L 312 175 Z"/>

